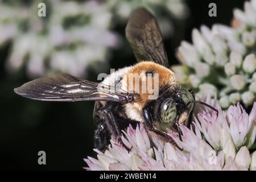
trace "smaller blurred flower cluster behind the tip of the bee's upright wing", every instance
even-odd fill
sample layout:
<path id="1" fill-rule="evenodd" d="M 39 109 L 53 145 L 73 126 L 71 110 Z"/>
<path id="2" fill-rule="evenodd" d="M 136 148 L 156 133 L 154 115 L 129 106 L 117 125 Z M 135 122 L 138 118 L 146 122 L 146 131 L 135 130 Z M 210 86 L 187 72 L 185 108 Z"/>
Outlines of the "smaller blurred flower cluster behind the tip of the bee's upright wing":
<path id="1" fill-rule="evenodd" d="M 174 34 L 174 28 L 177 27 L 174 27 L 172 20 L 177 20 L 176 24 L 183 24 L 189 14 L 188 7 L 184 3 L 185 0 L 112 0 L 106 2 L 107 6 L 112 9 L 114 17 L 118 19 L 118 22 L 123 24 L 127 23 L 129 15 L 137 7 L 146 7 L 146 9 L 150 10 L 158 20 L 163 36 L 172 36 Z M 168 12 L 167 15 L 169 17 L 167 18 L 167 15 L 163 15 L 163 12 Z M 170 15 L 172 19 L 170 19 Z"/>

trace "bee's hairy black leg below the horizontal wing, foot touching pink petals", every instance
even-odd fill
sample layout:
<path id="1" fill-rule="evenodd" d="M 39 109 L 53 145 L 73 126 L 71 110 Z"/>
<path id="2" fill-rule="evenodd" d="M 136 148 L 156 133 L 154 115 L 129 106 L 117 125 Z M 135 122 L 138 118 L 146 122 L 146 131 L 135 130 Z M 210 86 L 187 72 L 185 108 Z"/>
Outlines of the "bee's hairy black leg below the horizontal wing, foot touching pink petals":
<path id="1" fill-rule="evenodd" d="M 120 142 L 122 144 L 123 147 L 125 147 L 125 149 L 127 151 L 130 151 L 131 148 L 127 147 L 123 142 L 122 142 L 122 131 L 120 129 L 120 127 L 118 126 L 117 123 L 117 119 L 115 119 L 115 116 L 113 114 L 113 110 L 115 110 L 115 103 L 109 103 L 105 109 L 103 109 L 103 117 L 104 117 L 104 121 L 105 124 L 107 126 L 107 129 L 109 131 L 109 133 L 118 140 L 118 142 Z"/>

